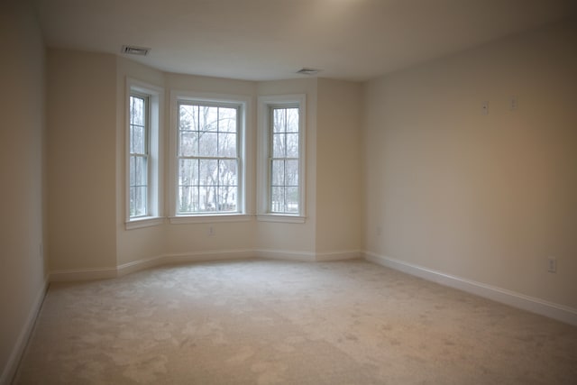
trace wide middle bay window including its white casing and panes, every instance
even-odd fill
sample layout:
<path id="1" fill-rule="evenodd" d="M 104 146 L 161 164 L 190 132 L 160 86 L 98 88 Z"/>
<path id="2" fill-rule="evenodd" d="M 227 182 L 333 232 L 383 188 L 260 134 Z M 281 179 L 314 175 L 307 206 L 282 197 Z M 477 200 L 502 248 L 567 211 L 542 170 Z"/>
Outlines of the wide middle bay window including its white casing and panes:
<path id="1" fill-rule="evenodd" d="M 250 219 L 246 138 L 250 101 L 249 96 L 171 91 L 171 224 Z M 233 129 L 230 121 L 233 121 L 234 114 Z M 201 119 L 204 119 L 204 124 Z M 236 142 L 235 149 L 233 141 Z M 204 145 L 203 142 L 209 144 Z"/>

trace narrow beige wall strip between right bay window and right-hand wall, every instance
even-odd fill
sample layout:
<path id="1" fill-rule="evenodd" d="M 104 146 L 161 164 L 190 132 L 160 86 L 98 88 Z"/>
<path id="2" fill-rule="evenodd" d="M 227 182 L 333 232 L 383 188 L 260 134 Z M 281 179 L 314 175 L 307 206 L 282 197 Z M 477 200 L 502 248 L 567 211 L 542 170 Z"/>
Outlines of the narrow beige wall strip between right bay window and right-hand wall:
<path id="1" fill-rule="evenodd" d="M 362 249 L 362 84 L 320 78 L 316 252 Z"/>

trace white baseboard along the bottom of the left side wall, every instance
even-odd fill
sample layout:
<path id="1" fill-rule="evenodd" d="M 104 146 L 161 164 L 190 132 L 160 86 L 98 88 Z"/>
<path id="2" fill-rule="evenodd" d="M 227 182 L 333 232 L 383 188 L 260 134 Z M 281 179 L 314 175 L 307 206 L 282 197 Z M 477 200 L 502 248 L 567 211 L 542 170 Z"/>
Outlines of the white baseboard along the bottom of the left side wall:
<path id="1" fill-rule="evenodd" d="M 32 308 L 26 317 L 24 322 L 23 328 L 16 339 L 16 344 L 14 345 L 14 349 L 12 353 L 10 353 L 10 357 L 8 357 L 8 362 L 6 362 L 6 366 L 0 375 L 0 385 L 9 385 L 12 380 L 14 380 L 14 375 L 18 370 L 18 364 L 20 363 L 20 359 L 23 356 L 24 349 L 26 349 L 26 344 L 28 344 L 28 340 L 32 335 L 32 331 L 34 329 L 34 323 L 36 322 L 36 317 L 40 312 L 42 307 L 42 302 L 44 301 L 44 296 L 46 296 L 46 291 L 48 290 L 48 277 L 44 279 L 42 283 L 41 289 L 36 294 L 36 298 L 34 298 L 34 302 L 32 303 Z"/>

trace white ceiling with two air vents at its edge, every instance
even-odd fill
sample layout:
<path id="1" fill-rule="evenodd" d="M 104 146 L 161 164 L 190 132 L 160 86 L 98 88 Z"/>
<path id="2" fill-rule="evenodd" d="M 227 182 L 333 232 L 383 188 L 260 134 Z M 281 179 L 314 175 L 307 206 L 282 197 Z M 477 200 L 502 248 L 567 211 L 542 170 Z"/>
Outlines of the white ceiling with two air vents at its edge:
<path id="1" fill-rule="evenodd" d="M 576 0 L 34 0 L 47 45 L 169 72 L 364 80 L 575 13 Z"/>

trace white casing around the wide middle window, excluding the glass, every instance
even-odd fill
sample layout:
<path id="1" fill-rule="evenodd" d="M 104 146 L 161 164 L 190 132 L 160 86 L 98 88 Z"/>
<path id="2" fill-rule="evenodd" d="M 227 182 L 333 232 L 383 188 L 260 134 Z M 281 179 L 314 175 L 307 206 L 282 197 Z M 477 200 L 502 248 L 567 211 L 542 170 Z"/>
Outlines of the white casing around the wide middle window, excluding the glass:
<path id="1" fill-rule="evenodd" d="M 238 213 L 210 213 L 210 214 L 190 214 L 177 215 L 177 180 L 178 180 L 178 149 L 177 149 L 177 111 L 179 101 L 197 102 L 197 103 L 229 103 L 240 105 L 241 120 L 239 124 L 239 143 L 240 143 L 240 164 L 239 164 L 239 191 L 238 191 Z M 213 223 L 213 222 L 243 222 L 251 219 L 250 199 L 252 191 L 252 173 L 249 165 L 252 164 L 251 149 L 249 143 L 248 128 L 251 127 L 251 97 L 243 95 L 215 94 L 195 91 L 170 91 L 170 129 L 169 129 L 169 222 L 170 224 L 195 224 L 195 223 Z"/>

